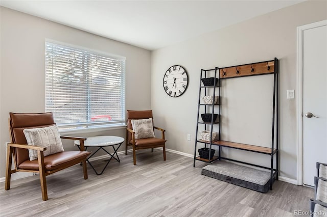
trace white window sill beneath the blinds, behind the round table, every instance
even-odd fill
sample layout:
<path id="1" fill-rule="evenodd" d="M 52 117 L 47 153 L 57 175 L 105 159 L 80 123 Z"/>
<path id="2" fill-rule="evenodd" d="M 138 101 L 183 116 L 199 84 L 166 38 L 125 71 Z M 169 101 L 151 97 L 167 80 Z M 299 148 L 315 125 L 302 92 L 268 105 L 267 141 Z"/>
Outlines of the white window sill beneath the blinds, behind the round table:
<path id="1" fill-rule="evenodd" d="M 101 132 L 107 130 L 115 130 L 115 129 L 125 129 L 126 124 L 110 124 L 110 125 L 99 125 L 99 126 L 90 126 L 84 128 L 75 128 L 75 129 L 60 129 L 60 135 L 68 135 L 72 133 L 90 133 L 90 132 Z"/>

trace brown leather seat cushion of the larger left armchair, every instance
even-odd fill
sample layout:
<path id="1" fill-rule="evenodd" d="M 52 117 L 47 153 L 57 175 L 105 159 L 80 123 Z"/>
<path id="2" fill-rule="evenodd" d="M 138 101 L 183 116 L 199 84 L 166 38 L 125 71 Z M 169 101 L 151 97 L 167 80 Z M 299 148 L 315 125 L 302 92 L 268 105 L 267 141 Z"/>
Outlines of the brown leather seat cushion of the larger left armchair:
<path id="1" fill-rule="evenodd" d="M 44 157 L 45 171 L 56 170 L 58 168 L 65 167 L 65 164 L 78 164 L 91 152 L 88 151 L 63 151 L 55 154 L 51 154 Z M 36 160 L 25 160 L 20 165 L 18 169 L 24 170 L 38 170 L 39 163 Z"/>

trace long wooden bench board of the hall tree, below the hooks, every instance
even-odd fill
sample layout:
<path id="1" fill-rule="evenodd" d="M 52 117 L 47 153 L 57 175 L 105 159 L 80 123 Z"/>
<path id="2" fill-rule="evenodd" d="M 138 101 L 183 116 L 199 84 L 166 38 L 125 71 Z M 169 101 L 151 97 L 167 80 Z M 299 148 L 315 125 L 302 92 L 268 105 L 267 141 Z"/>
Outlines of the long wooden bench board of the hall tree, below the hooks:
<path id="1" fill-rule="evenodd" d="M 258 152 L 258 153 L 263 153 L 263 154 L 271 154 L 271 148 L 262 147 L 262 146 L 247 145 L 247 144 L 242 144 L 242 143 L 233 143 L 233 142 L 220 141 L 220 140 L 214 141 L 214 142 L 212 142 L 212 144 L 223 146 L 223 147 L 253 151 L 253 152 Z M 276 149 L 273 149 L 273 154 L 275 154 L 276 152 L 277 152 Z"/>

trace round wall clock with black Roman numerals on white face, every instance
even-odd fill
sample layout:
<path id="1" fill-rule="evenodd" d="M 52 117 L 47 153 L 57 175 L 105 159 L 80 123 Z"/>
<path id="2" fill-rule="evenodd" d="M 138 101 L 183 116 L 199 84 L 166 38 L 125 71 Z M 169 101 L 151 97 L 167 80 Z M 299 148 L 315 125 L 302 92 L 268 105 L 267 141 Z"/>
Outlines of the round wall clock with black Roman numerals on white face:
<path id="1" fill-rule="evenodd" d="M 182 95 L 188 87 L 188 73 L 178 65 L 170 67 L 164 75 L 164 89 L 171 97 Z"/>

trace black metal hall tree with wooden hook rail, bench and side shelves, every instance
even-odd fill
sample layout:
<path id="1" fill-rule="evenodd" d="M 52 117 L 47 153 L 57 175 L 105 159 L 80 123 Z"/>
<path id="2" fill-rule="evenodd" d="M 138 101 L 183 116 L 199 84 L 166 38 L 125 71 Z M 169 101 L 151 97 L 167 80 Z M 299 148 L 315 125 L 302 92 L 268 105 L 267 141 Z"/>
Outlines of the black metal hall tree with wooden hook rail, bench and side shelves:
<path id="1" fill-rule="evenodd" d="M 272 183 L 274 179 L 278 180 L 278 59 L 274 58 L 274 60 L 269 60 L 269 61 L 264 61 L 264 62 L 258 62 L 258 63 L 250 63 L 250 64 L 244 64 L 244 65 L 237 65 L 237 66 L 229 66 L 229 67 L 224 67 L 224 68 L 218 68 L 216 67 L 215 69 L 209 69 L 209 70 L 201 70 L 201 78 L 203 76 L 203 72 L 207 71 L 212 71 L 215 70 L 215 77 L 218 78 L 218 87 L 213 87 L 213 88 L 218 88 L 219 90 L 219 118 L 218 118 L 218 124 L 219 124 L 219 134 L 218 134 L 218 140 L 207 142 L 207 141 L 202 141 L 198 140 L 198 125 L 199 125 L 199 111 L 200 111 L 200 98 L 201 98 L 201 89 L 202 88 L 208 88 L 208 87 L 203 87 L 201 86 L 201 79 L 200 79 L 200 92 L 199 92 L 199 105 L 198 105 L 198 121 L 197 121 L 197 127 L 196 127 L 196 141 L 195 141 L 195 150 L 194 150 L 194 162 L 193 166 L 195 167 L 195 161 L 200 160 L 204 161 L 207 163 L 211 163 L 215 160 L 230 160 L 230 161 L 235 161 L 239 162 L 245 165 L 250 165 L 254 167 L 259 167 L 259 168 L 264 168 L 267 170 L 270 170 L 270 189 L 272 189 Z M 217 72 L 219 73 L 217 76 Z M 205 73 L 206 74 L 206 73 Z M 236 78 L 236 77 L 244 77 L 244 76 L 255 76 L 255 75 L 265 75 L 265 74 L 273 74 L 273 107 L 272 107 L 272 135 L 271 135 L 271 147 L 262 147 L 262 146 L 254 146 L 254 145 L 248 145 L 248 144 L 241 144 L 241 143 L 233 143 L 229 141 L 221 141 L 221 116 L 220 116 L 220 81 L 221 79 L 228 79 L 228 78 Z M 214 92 L 215 93 L 215 92 Z M 206 106 L 206 105 L 205 105 Z M 205 108 L 206 109 L 206 108 Z M 212 114 L 214 114 L 214 104 L 212 105 Z M 213 125 L 215 122 L 211 123 L 205 123 L 207 125 L 211 125 L 211 132 L 213 130 Z M 276 131 L 275 131 L 276 130 Z M 205 147 L 209 146 L 209 150 L 211 151 L 212 145 L 219 146 L 219 151 L 218 151 L 218 156 L 214 156 L 212 159 L 203 159 L 200 157 L 196 157 L 196 150 L 197 150 L 197 143 L 204 143 Z M 239 149 L 239 150 L 245 150 L 245 151 L 250 151 L 250 152 L 255 152 L 255 153 L 260 153 L 260 154 L 267 154 L 270 155 L 270 167 L 264 167 L 261 165 L 255 165 L 255 164 L 250 164 L 245 161 L 241 160 L 236 160 L 236 159 L 230 159 L 221 156 L 221 149 L 222 148 L 233 148 L 233 149 Z M 276 168 L 274 168 L 274 155 L 276 155 Z M 209 156 L 211 156 L 209 154 Z"/>

